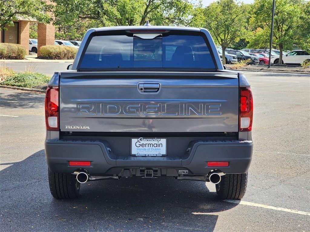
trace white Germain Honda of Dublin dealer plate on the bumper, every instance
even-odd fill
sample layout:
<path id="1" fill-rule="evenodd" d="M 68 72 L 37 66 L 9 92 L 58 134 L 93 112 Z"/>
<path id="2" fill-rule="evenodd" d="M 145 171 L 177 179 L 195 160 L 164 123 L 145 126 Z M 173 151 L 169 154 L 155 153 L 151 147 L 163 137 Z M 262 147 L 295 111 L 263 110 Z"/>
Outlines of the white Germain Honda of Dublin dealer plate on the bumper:
<path id="1" fill-rule="evenodd" d="M 131 138 L 132 156 L 166 156 L 166 138 Z"/>

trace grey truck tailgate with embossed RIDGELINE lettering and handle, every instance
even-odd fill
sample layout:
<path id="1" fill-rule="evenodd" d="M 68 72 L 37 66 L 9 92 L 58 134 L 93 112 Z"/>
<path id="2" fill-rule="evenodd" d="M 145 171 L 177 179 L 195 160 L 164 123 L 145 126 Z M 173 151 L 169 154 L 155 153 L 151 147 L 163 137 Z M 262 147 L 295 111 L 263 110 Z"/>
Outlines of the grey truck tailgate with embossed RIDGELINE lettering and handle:
<path id="1" fill-rule="evenodd" d="M 60 131 L 236 132 L 237 73 L 63 72 Z"/>

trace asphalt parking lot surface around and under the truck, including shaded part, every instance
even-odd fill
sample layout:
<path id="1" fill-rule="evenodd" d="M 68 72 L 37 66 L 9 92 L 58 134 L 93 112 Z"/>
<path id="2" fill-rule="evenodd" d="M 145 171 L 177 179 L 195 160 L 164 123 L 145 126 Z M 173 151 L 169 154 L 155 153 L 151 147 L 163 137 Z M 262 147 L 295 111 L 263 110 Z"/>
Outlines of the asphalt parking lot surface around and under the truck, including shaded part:
<path id="1" fill-rule="evenodd" d="M 310 231 L 310 75 L 245 72 L 254 95 L 246 195 L 173 178 L 83 184 L 49 192 L 44 94 L 0 88 L 0 231 Z"/>

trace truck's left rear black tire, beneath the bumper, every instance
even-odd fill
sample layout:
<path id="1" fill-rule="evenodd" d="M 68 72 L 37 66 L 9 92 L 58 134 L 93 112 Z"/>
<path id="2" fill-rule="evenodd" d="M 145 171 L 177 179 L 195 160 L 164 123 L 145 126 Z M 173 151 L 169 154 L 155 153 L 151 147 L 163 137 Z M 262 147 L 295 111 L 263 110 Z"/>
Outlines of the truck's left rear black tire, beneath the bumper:
<path id="1" fill-rule="evenodd" d="M 50 191 L 56 199 L 73 199 L 78 197 L 80 183 L 71 173 L 55 173 L 48 170 Z"/>

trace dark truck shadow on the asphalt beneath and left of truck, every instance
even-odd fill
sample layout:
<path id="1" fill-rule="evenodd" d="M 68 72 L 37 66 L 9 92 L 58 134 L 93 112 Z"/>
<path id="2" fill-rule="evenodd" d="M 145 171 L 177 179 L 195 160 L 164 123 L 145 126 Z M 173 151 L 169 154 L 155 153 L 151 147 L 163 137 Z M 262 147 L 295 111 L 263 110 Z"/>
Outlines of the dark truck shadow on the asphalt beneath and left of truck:
<path id="1" fill-rule="evenodd" d="M 214 231 L 217 212 L 236 206 L 174 178 L 92 181 L 77 199 L 56 200 L 44 150 L 1 166 L 0 231 Z"/>

